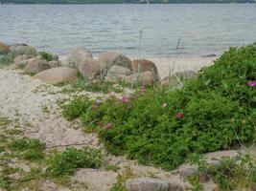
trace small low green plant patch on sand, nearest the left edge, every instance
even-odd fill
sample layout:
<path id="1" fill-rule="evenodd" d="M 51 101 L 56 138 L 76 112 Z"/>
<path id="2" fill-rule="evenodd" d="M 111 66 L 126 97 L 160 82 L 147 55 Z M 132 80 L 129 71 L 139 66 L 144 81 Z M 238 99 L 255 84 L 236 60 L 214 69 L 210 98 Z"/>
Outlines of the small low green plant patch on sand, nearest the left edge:
<path id="1" fill-rule="evenodd" d="M 18 154 L 18 157 L 28 160 L 44 159 L 43 144 L 38 139 L 22 138 L 13 140 L 9 144 L 10 149 Z"/>

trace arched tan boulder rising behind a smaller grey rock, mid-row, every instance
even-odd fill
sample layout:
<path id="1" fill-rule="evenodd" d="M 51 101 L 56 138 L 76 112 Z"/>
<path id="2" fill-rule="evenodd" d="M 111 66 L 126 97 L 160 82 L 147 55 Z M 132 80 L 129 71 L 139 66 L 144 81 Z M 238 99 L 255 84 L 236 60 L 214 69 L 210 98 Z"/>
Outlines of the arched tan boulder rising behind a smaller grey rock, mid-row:
<path id="1" fill-rule="evenodd" d="M 131 61 L 122 53 L 104 52 L 100 53 L 98 59 L 102 63 L 102 68 L 108 70 L 111 66 L 123 66 L 132 71 Z"/>

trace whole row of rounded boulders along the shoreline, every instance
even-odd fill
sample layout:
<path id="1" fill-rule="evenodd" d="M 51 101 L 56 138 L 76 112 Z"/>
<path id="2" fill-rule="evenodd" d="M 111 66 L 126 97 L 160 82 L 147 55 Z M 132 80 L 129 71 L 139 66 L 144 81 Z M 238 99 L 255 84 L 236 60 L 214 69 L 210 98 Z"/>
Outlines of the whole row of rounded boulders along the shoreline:
<path id="1" fill-rule="evenodd" d="M 92 53 L 83 47 L 78 47 L 59 59 L 58 56 L 51 55 L 51 60 L 49 60 L 29 45 L 8 46 L 0 42 L 0 53 L 14 53 L 16 55 L 15 67 L 24 69 L 27 74 L 36 74 L 35 78 L 49 84 L 74 80 L 76 78 L 74 70 L 89 82 L 105 80 L 112 83 L 123 82 L 142 86 L 154 86 L 155 84 L 177 86 L 181 81 L 197 76 L 196 73 L 187 71 L 167 76 L 160 82 L 157 67 L 150 60 L 130 60 L 123 53 L 116 52 L 100 53 L 97 58 L 94 58 Z M 53 68 L 59 69 L 52 70 Z M 53 77 L 54 75 L 57 77 Z"/>

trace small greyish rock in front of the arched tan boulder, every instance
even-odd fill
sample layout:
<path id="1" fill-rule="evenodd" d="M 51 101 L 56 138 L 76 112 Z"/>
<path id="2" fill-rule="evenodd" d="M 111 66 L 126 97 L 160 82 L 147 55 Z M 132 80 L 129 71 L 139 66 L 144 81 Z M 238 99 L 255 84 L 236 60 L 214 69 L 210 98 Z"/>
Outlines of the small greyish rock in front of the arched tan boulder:
<path id="1" fill-rule="evenodd" d="M 128 68 L 114 65 L 107 72 L 105 80 L 111 82 L 125 81 L 130 74 L 131 71 Z"/>

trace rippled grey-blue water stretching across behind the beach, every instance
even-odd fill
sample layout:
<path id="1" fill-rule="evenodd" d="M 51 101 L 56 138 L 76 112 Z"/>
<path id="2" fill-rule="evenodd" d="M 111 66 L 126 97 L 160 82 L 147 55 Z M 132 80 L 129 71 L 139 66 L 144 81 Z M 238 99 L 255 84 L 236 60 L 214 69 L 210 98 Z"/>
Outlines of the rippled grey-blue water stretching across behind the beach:
<path id="1" fill-rule="evenodd" d="M 140 31 L 142 31 L 141 51 Z M 52 53 L 221 53 L 256 41 L 256 4 L 0 5 L 0 41 Z"/>

